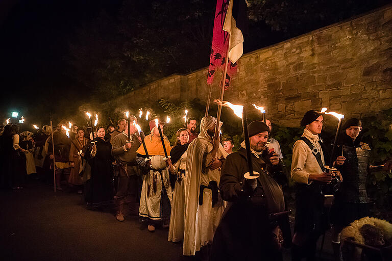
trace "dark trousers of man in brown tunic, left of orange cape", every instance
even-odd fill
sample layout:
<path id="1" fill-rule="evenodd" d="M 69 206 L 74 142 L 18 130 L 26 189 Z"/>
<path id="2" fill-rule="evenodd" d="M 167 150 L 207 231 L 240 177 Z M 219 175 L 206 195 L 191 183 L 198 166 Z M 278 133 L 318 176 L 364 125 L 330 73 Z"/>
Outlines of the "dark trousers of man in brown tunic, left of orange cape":
<path id="1" fill-rule="evenodd" d="M 124 204 L 128 204 L 129 212 L 131 215 L 138 215 L 139 202 L 137 201 L 138 194 L 138 176 L 119 176 L 117 193 L 115 195 L 115 202 L 117 213 L 123 213 Z"/>

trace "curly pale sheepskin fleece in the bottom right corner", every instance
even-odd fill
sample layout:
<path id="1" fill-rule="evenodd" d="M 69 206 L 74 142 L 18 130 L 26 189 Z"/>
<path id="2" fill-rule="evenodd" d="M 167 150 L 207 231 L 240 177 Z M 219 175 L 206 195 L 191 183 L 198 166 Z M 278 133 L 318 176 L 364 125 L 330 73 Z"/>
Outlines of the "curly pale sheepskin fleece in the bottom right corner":
<path id="1" fill-rule="evenodd" d="M 384 233 L 385 240 L 392 239 L 391 223 L 382 219 L 364 217 L 359 220 L 355 220 L 349 226 L 341 230 L 340 240 L 342 241 L 348 238 L 352 238 L 355 242 L 365 244 L 365 240 L 359 231 L 359 229 L 365 224 L 374 225 L 379 228 Z"/>

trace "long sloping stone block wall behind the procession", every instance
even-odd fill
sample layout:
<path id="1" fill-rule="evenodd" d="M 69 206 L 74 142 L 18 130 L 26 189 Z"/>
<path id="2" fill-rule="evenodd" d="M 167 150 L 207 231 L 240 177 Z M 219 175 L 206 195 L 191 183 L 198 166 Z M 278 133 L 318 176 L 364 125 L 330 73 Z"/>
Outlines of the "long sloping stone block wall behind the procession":
<path id="1" fill-rule="evenodd" d="M 206 100 L 207 70 L 171 75 L 119 99 Z M 322 107 L 346 118 L 392 108 L 392 5 L 243 55 L 224 100 L 264 106 L 286 126 Z"/>

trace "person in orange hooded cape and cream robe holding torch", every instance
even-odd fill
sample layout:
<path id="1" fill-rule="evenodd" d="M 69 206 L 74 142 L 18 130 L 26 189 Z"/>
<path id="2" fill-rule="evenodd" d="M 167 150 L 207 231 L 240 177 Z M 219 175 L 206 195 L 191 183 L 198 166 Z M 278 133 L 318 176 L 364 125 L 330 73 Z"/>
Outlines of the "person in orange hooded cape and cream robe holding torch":
<path id="1" fill-rule="evenodd" d="M 170 142 L 163 135 L 165 122 L 151 120 L 149 125 L 151 134 L 144 138 L 144 144 L 137 149 L 136 160 L 144 174 L 139 216 L 148 224 L 148 230 L 153 232 L 157 224 L 168 226 L 172 194 L 169 171 L 174 172 L 175 169 L 168 158 Z M 146 159 L 144 145 L 151 159 Z"/>

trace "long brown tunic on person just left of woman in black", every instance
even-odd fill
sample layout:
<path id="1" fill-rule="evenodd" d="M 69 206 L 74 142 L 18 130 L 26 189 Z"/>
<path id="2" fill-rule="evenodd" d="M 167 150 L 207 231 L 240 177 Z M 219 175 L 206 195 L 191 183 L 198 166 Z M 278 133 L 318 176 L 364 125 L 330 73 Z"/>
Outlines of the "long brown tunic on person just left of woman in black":
<path id="1" fill-rule="evenodd" d="M 79 175 L 81 170 L 81 156 L 78 154 L 79 151 L 83 149 L 83 147 L 87 144 L 88 140 L 83 137 L 83 140 L 76 139 L 72 140 L 71 149 L 69 150 L 69 162 L 74 162 L 75 167 L 71 168 L 71 173 L 69 174 L 68 183 L 73 185 L 82 185 L 83 180 Z M 76 145 L 76 146 L 75 146 Z"/>

